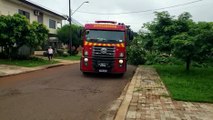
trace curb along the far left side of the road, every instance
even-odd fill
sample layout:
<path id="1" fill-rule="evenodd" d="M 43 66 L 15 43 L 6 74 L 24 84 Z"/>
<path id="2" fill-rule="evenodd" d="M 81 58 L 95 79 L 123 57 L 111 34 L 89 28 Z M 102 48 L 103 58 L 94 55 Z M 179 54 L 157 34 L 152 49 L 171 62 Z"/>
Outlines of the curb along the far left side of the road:
<path id="1" fill-rule="evenodd" d="M 12 73 L 12 74 L 7 74 L 7 75 L 2 75 L 0 78 L 3 77 L 9 77 L 9 76 L 14 76 L 14 75 L 19 75 L 19 74 L 25 74 L 25 73 L 30 73 L 30 72 L 35 72 L 38 70 L 44 70 L 44 69 L 50 69 L 50 68 L 55 68 L 55 67 L 61 67 L 61 66 L 66 66 L 66 65 L 72 65 L 72 64 L 78 64 L 79 62 L 73 62 L 73 63 L 58 63 L 58 64 L 53 64 L 53 65 L 44 65 L 44 66 L 39 66 L 39 67 L 34 67 L 32 70 L 26 70 L 20 73 Z"/>

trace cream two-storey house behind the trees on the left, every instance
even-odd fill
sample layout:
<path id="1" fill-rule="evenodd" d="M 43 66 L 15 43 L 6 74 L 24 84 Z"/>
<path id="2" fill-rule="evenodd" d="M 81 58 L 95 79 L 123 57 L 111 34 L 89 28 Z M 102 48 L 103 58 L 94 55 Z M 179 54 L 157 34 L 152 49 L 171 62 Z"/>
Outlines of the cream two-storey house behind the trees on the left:
<path id="1" fill-rule="evenodd" d="M 0 15 L 16 13 L 26 16 L 31 23 L 37 21 L 46 25 L 49 29 L 49 44 L 59 47 L 56 37 L 57 28 L 60 28 L 62 21 L 67 19 L 66 15 L 61 15 L 29 0 L 0 0 Z"/>

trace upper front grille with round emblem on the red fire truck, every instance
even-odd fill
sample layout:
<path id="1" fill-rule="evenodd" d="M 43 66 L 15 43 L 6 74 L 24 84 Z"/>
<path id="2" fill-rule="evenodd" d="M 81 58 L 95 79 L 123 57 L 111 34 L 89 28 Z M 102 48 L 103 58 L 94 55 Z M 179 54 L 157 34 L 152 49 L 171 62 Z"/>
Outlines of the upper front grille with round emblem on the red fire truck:
<path id="1" fill-rule="evenodd" d="M 115 47 L 93 47 L 93 58 L 114 58 Z"/>

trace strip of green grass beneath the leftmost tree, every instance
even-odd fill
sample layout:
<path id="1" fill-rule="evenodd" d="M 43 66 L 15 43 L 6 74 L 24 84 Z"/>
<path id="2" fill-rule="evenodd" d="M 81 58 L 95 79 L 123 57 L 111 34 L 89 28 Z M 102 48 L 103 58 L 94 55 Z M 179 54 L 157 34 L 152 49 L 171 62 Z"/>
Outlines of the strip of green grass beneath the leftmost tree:
<path id="1" fill-rule="evenodd" d="M 40 58 L 30 58 L 29 60 L 8 60 L 0 59 L 0 64 L 17 65 L 22 67 L 37 67 L 42 65 L 49 65 L 58 63 L 57 61 L 48 61 Z"/>

